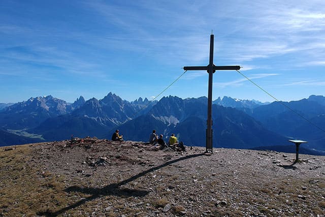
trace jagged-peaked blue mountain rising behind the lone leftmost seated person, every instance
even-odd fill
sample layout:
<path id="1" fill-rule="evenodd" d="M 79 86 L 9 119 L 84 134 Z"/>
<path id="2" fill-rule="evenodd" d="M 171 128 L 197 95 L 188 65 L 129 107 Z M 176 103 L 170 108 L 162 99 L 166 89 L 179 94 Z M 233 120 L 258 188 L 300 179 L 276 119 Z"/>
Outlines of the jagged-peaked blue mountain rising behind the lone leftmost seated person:
<path id="1" fill-rule="evenodd" d="M 109 92 L 101 100 L 89 99 L 71 113 L 49 118 L 28 132 L 41 134 L 47 140 L 64 139 L 70 135 L 102 137 L 110 129 L 141 115 L 147 101 L 139 99 L 130 103 Z"/>

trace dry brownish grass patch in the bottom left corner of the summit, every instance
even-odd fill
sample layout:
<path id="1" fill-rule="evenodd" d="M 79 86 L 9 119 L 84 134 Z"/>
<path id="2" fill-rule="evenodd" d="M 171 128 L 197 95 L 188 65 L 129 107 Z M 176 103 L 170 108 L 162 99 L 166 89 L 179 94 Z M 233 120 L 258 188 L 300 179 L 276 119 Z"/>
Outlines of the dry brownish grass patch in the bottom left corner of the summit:
<path id="1" fill-rule="evenodd" d="M 34 163 L 31 146 L 12 148 L 0 148 L 0 215 L 35 216 L 55 212 L 75 200 L 64 192 L 62 177 Z"/>

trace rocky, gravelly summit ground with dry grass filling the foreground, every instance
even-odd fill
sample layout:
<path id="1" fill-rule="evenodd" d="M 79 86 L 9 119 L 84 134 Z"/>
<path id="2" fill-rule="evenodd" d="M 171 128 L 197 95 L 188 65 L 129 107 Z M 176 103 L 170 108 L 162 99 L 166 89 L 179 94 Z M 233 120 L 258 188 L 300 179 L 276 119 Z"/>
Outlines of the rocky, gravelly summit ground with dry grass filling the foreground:
<path id="1" fill-rule="evenodd" d="M 0 148 L 0 216 L 324 216 L 325 157 L 96 138 Z"/>

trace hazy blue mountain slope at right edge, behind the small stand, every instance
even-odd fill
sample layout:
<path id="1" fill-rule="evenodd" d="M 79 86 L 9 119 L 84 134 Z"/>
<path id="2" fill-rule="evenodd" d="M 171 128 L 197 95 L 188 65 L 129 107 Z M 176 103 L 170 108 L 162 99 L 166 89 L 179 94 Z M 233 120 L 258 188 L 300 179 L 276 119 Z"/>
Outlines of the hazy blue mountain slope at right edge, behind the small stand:
<path id="1" fill-rule="evenodd" d="M 308 99 L 291 102 L 273 102 L 269 105 L 245 110 L 256 120 L 262 122 L 263 126 L 270 131 L 289 138 L 305 139 L 308 148 L 325 150 L 325 97 L 310 96 Z M 285 104 L 287 107 L 282 105 Z M 303 119 L 300 114 L 306 119 Z M 316 125 L 317 127 L 315 127 Z"/>

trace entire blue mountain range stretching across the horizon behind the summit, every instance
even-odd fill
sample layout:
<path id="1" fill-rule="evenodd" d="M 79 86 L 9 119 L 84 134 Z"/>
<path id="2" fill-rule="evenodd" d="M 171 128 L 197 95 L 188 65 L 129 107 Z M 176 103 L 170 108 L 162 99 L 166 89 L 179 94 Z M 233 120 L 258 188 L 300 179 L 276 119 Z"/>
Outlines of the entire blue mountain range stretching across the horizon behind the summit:
<path id="1" fill-rule="evenodd" d="M 283 102 L 319 128 L 325 128 L 325 97 Z M 304 147 L 325 150 L 325 133 L 279 102 L 218 98 L 213 102 L 215 147 L 255 148 L 290 145 L 288 138 L 307 140 Z M 118 128 L 126 140 L 147 141 L 153 129 L 171 133 L 186 145 L 205 146 L 207 98 L 164 97 L 149 103 L 128 102 L 111 92 L 103 99 L 74 103 L 52 96 L 30 98 L 0 111 L 0 145 L 76 137 L 111 138 Z"/>

